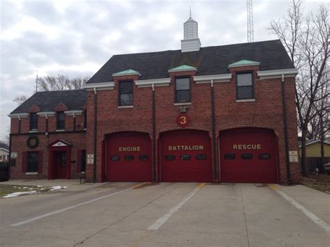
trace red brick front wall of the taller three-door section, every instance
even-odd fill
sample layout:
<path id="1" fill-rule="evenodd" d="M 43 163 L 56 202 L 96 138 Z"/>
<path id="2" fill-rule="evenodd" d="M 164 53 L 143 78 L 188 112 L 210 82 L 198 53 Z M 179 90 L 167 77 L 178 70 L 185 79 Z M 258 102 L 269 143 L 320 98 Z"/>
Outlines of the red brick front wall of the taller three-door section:
<path id="1" fill-rule="evenodd" d="M 235 72 L 252 70 L 255 79 L 255 102 L 236 102 Z M 283 135 L 283 113 L 281 101 L 281 79 L 258 79 L 258 66 L 236 67 L 230 69 L 233 78 L 230 82 L 214 83 L 216 134 L 225 129 L 237 127 L 262 127 L 274 129 L 278 138 L 278 166 L 280 182 L 286 183 L 286 161 Z M 212 136 L 211 86 L 210 83 L 196 84 L 192 81 L 195 72 L 170 73 L 171 86 L 155 87 L 157 140 L 162 132 L 180 129 L 175 118 L 180 106 L 175 106 L 175 77 L 191 75 L 191 105 L 187 113 L 191 123 L 187 129 L 201 129 Z M 134 86 L 134 107 L 118 109 L 118 81 L 138 79 L 137 76 L 116 77 L 113 90 L 97 91 L 97 181 L 101 180 L 102 140 L 114 132 L 147 132 L 152 138 L 152 89 Z M 290 150 L 297 150 L 297 119 L 294 103 L 294 79 L 285 79 L 288 114 L 288 139 Z M 88 131 L 87 154 L 93 154 L 94 92 L 88 92 Z M 219 147 L 218 147 L 219 148 Z M 158 154 L 158 150 L 156 152 Z M 157 157 L 158 159 L 158 157 Z M 218 159 L 219 164 L 219 159 Z M 297 163 L 290 163 L 291 176 L 299 182 L 300 171 Z M 158 166 L 157 166 L 158 168 Z M 158 171 L 157 171 L 158 174 Z M 93 165 L 87 165 L 87 177 L 93 177 Z M 219 182 L 219 175 L 217 180 Z"/>

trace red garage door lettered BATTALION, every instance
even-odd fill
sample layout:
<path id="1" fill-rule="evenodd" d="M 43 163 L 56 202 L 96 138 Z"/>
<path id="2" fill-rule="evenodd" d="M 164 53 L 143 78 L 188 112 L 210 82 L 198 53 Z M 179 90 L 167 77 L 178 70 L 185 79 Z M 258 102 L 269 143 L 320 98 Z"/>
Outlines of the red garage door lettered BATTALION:
<path id="1" fill-rule="evenodd" d="M 211 140 L 206 132 L 168 132 L 160 140 L 162 182 L 211 182 Z"/>

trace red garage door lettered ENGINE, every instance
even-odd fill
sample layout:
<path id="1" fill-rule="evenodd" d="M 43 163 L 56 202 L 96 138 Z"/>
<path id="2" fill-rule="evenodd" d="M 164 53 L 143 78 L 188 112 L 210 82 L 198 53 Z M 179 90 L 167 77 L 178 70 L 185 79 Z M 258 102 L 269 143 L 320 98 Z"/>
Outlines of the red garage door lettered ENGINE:
<path id="1" fill-rule="evenodd" d="M 148 134 L 111 134 L 106 149 L 108 181 L 151 181 L 151 140 Z"/>

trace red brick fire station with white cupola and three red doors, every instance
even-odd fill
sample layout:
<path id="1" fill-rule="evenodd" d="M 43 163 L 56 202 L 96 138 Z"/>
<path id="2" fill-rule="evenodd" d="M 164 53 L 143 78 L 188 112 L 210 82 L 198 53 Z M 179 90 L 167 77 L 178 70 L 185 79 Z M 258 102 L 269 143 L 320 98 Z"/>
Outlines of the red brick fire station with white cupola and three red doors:
<path id="1" fill-rule="evenodd" d="M 112 56 L 81 90 L 12 113 L 11 179 L 299 182 L 294 83 L 279 40 Z"/>

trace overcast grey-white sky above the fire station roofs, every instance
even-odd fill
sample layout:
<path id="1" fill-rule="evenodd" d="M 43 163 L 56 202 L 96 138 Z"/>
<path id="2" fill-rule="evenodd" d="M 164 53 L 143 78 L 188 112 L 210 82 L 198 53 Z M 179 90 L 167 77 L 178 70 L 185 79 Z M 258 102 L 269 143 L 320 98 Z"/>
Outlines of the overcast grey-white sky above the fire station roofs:
<path id="1" fill-rule="evenodd" d="M 305 1 L 305 11 L 327 1 Z M 289 0 L 254 0 L 254 40 L 276 38 L 269 22 Z M 16 95 L 32 95 L 36 74 L 92 76 L 113 55 L 180 49 L 183 23 L 198 22 L 202 47 L 246 42 L 246 0 L 0 0 L 0 139 Z"/>

